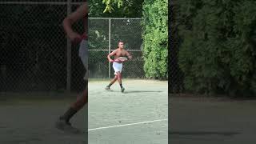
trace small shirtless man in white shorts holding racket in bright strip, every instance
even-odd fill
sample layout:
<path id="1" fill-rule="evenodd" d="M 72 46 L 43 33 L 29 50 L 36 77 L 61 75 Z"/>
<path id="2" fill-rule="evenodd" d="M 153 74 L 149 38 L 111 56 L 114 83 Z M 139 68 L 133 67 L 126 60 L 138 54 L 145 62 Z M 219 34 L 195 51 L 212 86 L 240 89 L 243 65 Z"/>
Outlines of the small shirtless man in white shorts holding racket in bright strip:
<path id="1" fill-rule="evenodd" d="M 110 57 L 114 56 L 114 60 Z M 114 68 L 114 78 L 110 82 L 108 86 L 106 86 L 106 90 L 110 90 L 110 86 L 114 84 L 118 80 L 118 83 L 121 87 L 121 92 L 123 93 L 125 91 L 125 88 L 122 86 L 122 62 L 121 60 L 118 60 L 119 57 L 128 57 L 129 59 L 132 58 L 132 56 L 124 50 L 124 42 L 119 41 L 118 42 L 118 48 L 114 50 L 112 53 L 108 54 L 107 58 L 109 62 L 113 62 L 113 68 Z"/>

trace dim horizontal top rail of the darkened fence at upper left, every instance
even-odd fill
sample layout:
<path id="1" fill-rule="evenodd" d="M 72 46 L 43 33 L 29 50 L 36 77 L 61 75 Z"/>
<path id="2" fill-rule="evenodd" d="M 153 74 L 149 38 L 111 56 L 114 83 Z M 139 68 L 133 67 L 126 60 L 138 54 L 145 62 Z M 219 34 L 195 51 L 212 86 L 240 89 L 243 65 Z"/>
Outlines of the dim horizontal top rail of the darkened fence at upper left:
<path id="1" fill-rule="evenodd" d="M 66 5 L 69 2 L 0 2 L 0 5 Z M 70 2 L 70 5 L 82 5 L 84 2 Z"/>

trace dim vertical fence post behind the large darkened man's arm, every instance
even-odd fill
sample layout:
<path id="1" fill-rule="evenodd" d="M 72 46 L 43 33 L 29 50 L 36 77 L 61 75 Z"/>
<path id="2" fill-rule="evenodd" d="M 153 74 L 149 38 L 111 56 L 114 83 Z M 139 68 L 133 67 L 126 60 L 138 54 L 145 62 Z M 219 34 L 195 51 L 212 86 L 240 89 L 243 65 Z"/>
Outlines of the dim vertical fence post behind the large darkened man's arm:
<path id="1" fill-rule="evenodd" d="M 66 14 L 71 14 L 71 0 L 66 1 Z M 70 93 L 71 90 L 71 42 L 66 39 L 66 91 Z"/>

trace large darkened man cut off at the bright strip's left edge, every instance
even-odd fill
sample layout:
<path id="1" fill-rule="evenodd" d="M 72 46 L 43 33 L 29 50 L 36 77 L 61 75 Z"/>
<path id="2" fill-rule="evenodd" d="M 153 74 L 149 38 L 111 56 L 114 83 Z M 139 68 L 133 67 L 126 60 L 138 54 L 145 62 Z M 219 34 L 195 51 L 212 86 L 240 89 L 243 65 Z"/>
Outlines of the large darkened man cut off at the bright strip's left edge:
<path id="1" fill-rule="evenodd" d="M 72 30 L 72 24 L 74 22 L 78 22 L 79 19 L 83 19 L 84 21 L 84 34 L 78 34 Z M 86 69 L 86 72 L 88 71 L 88 42 L 87 42 L 87 24 L 88 24 L 88 4 L 85 2 L 82 6 L 79 6 L 74 13 L 67 16 L 63 21 L 63 27 L 64 30 L 70 38 L 71 42 L 80 42 L 80 48 L 79 48 L 79 57 L 82 60 L 82 63 Z M 74 116 L 78 112 L 78 110 L 81 110 L 83 106 L 86 105 L 88 102 L 88 78 L 87 74 L 85 75 L 85 89 L 82 92 L 82 96 L 78 97 L 77 101 L 71 104 L 69 109 L 66 110 L 62 116 L 58 118 L 58 121 L 56 122 L 56 127 L 59 130 L 75 130 L 71 124 L 70 124 L 70 118 Z"/>

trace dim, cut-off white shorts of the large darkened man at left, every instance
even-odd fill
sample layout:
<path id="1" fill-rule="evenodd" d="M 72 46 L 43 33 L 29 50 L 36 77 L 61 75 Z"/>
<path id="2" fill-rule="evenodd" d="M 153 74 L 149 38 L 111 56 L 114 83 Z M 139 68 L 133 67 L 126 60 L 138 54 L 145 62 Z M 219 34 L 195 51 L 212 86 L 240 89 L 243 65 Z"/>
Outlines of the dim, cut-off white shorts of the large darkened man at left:
<path id="1" fill-rule="evenodd" d="M 79 57 L 82 60 L 82 64 L 86 69 L 86 74 L 84 76 L 84 80 L 88 80 L 88 42 L 86 40 L 82 40 L 79 47 Z"/>

